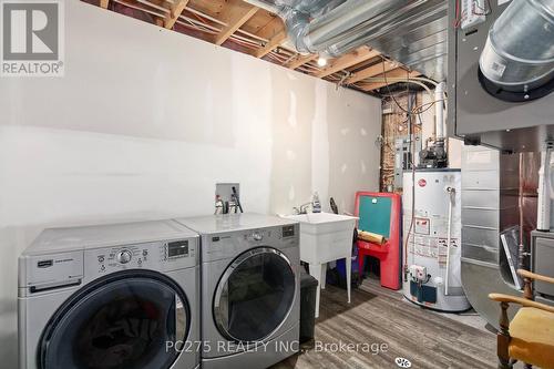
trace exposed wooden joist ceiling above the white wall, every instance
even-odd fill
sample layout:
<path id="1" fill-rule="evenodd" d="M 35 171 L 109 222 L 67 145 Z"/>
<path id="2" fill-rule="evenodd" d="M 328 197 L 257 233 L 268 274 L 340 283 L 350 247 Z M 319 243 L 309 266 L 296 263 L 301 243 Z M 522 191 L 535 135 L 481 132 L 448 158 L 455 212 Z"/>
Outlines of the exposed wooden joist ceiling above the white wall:
<path id="1" fill-rule="evenodd" d="M 82 1 L 369 94 L 422 74 L 367 45 L 320 66 L 318 55 L 298 54 L 288 44 L 277 14 L 243 0 Z"/>

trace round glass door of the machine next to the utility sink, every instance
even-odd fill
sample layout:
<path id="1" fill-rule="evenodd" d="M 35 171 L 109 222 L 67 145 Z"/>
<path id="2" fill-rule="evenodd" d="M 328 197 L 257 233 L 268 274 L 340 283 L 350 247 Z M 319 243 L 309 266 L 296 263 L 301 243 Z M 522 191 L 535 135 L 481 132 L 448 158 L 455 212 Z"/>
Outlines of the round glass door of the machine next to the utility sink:
<path id="1" fill-rule="evenodd" d="M 235 342 L 260 341 L 288 317 L 296 279 L 290 262 L 271 247 L 239 255 L 224 271 L 214 296 L 219 332 Z"/>

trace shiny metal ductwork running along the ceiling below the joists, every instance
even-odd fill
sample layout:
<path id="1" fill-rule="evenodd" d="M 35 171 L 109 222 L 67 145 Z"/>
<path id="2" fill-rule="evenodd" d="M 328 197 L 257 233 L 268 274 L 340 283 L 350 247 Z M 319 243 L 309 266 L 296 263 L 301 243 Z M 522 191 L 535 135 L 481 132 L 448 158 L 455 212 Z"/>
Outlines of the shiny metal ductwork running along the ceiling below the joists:
<path id="1" fill-rule="evenodd" d="M 369 45 L 435 81 L 447 78 L 448 1 L 245 1 L 279 14 L 300 53 L 337 58 Z"/>

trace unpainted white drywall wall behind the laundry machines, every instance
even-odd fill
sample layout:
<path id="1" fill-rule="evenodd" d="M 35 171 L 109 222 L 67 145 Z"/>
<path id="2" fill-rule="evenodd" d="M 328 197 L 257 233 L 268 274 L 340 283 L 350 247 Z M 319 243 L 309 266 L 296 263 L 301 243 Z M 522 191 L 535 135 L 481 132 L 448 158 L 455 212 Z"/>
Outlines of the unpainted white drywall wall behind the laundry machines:
<path id="1" fill-rule="evenodd" d="M 377 191 L 380 101 L 66 1 L 65 76 L 0 80 L 0 357 L 16 367 L 17 257 L 44 227 L 290 213 Z"/>

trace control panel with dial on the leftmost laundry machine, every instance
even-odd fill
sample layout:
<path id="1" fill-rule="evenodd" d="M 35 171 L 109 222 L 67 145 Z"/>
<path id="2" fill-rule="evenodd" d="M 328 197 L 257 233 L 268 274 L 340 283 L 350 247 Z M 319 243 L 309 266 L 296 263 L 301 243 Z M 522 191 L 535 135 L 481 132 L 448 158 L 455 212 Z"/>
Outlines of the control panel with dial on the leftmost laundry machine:
<path id="1" fill-rule="evenodd" d="M 88 249 L 85 276 L 92 278 L 126 269 L 170 271 L 194 267 L 198 239 L 177 239 Z"/>

